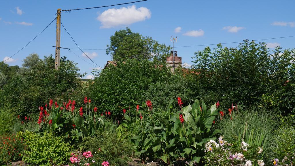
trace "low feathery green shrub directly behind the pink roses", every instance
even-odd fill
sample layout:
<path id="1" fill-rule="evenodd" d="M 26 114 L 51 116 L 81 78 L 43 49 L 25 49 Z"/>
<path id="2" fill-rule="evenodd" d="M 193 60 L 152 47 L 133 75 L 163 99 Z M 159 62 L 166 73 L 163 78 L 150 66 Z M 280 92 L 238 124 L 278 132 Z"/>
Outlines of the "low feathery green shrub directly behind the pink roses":
<path id="1" fill-rule="evenodd" d="M 88 137 L 81 145 L 93 153 L 98 165 L 108 161 L 110 166 L 127 166 L 127 160 L 133 152 L 130 142 L 126 139 L 120 140 L 116 132 L 103 133 L 100 137 Z"/>

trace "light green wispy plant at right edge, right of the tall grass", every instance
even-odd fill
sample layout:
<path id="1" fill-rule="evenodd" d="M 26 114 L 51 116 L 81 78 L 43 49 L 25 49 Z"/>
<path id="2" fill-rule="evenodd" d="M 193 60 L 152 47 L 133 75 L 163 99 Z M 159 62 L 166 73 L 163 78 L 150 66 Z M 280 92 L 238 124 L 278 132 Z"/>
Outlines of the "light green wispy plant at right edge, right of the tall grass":
<path id="1" fill-rule="evenodd" d="M 273 134 L 274 139 L 271 144 L 269 157 L 271 159 L 277 158 L 281 161 L 285 156 L 292 155 L 295 149 L 295 128 L 292 126 L 279 128 Z M 295 160 L 293 159 L 293 161 Z"/>

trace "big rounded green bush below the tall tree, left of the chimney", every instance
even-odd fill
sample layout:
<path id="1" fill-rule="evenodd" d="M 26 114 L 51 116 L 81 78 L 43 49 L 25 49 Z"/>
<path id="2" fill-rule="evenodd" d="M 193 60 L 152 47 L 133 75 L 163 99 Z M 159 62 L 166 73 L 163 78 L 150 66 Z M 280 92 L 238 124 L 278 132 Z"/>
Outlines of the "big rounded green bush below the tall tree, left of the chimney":
<path id="1" fill-rule="evenodd" d="M 101 71 L 94 83 L 89 85 L 91 99 L 98 110 L 111 111 L 114 117 L 122 116 L 122 110 L 131 110 L 135 115 L 135 106 L 142 106 L 147 99 L 144 92 L 156 82 L 167 82 L 170 71 L 158 63 L 136 59 L 118 62 Z"/>

